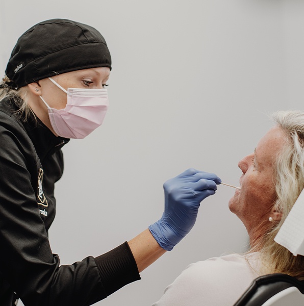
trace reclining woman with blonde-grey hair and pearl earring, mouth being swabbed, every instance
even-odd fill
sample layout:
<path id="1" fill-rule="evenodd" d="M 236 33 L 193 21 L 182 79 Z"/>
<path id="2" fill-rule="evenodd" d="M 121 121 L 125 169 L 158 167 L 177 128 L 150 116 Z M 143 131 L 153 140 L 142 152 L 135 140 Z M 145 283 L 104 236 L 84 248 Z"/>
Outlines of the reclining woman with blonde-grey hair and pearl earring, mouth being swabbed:
<path id="1" fill-rule="evenodd" d="M 274 127 L 238 163 L 241 190 L 229 201 L 246 227 L 250 250 L 191 264 L 154 306 L 232 306 L 260 275 L 304 279 L 304 256 L 274 242 L 304 188 L 304 112 L 281 111 L 272 118 Z"/>

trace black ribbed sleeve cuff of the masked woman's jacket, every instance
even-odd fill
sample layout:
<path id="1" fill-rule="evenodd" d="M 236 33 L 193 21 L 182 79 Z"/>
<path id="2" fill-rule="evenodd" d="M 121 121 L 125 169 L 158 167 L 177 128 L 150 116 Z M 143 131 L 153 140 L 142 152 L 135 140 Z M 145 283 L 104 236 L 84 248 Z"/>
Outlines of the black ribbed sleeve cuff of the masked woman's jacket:
<path id="1" fill-rule="evenodd" d="M 128 242 L 94 260 L 108 296 L 121 287 L 140 279 Z"/>

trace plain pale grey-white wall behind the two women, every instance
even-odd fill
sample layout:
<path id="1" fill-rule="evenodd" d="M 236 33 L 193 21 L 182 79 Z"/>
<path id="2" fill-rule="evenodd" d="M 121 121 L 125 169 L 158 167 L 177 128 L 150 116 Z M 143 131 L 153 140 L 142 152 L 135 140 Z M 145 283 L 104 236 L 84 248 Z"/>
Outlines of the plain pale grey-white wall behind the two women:
<path id="1" fill-rule="evenodd" d="M 302 109 L 301 0 L 78 0 L 26 2 L 0 10 L 1 71 L 17 38 L 50 18 L 88 23 L 113 59 L 110 110 L 100 129 L 65 148 L 50 229 L 62 264 L 130 240 L 163 212 L 163 182 L 188 167 L 238 184 L 237 162 L 271 126 L 267 114 Z M 98 305 L 150 305 L 189 264 L 245 249 L 219 186 L 192 232 Z"/>

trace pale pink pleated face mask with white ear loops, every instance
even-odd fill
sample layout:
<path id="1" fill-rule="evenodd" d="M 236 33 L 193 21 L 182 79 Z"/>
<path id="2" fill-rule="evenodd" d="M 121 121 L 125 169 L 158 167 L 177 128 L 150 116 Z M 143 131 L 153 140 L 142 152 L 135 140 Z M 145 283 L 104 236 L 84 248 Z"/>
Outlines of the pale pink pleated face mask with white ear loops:
<path id="1" fill-rule="evenodd" d="M 67 94 L 67 105 L 62 110 L 47 106 L 54 132 L 64 138 L 82 139 L 102 125 L 108 110 L 107 89 L 68 88 L 67 91 L 48 78 Z"/>

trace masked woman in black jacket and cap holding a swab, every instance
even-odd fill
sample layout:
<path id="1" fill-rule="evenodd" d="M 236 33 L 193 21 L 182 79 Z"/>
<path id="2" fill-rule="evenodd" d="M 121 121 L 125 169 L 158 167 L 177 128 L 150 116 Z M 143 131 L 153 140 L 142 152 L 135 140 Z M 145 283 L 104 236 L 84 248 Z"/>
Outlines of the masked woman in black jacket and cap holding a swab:
<path id="1" fill-rule="evenodd" d="M 188 169 L 164 184 L 159 221 L 96 258 L 60 266 L 47 231 L 55 217 L 61 148 L 102 124 L 111 57 L 103 36 L 66 19 L 40 22 L 18 39 L 0 85 L 0 305 L 91 305 L 171 250 L 220 184 Z M 127 98 L 127 97 L 126 97 Z M 68 221 L 67 221 L 68 222 Z M 96 244 L 102 233 L 95 233 Z"/>

